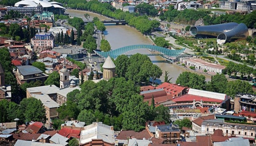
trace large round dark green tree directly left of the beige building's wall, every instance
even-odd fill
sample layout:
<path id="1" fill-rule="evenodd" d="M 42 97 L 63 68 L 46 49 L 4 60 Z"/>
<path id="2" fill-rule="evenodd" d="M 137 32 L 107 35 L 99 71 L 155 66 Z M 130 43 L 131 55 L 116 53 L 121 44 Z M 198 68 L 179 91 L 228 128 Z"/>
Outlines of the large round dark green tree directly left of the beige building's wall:
<path id="1" fill-rule="evenodd" d="M 25 98 L 20 102 L 20 109 L 24 113 L 25 121 L 45 122 L 45 108 L 42 102 L 33 97 Z"/>

